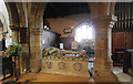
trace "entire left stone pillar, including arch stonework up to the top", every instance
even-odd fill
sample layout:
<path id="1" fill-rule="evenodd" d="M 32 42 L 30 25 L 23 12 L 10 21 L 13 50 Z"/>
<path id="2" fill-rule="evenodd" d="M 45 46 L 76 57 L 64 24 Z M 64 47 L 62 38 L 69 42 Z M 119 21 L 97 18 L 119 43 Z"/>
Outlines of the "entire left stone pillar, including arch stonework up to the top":
<path id="1" fill-rule="evenodd" d="M 38 72 L 41 65 L 40 57 L 42 52 L 41 34 L 43 13 L 47 7 L 47 2 L 28 2 L 28 28 L 30 35 L 30 70 Z M 35 10 L 35 11 L 34 11 Z"/>

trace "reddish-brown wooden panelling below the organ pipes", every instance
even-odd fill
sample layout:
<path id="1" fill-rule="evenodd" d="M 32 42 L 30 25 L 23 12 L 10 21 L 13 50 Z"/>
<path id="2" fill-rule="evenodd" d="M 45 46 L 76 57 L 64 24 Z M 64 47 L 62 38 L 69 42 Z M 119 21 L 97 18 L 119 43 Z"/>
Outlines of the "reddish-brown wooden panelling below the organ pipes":
<path id="1" fill-rule="evenodd" d="M 112 53 L 115 49 L 133 49 L 133 32 L 112 33 Z"/>

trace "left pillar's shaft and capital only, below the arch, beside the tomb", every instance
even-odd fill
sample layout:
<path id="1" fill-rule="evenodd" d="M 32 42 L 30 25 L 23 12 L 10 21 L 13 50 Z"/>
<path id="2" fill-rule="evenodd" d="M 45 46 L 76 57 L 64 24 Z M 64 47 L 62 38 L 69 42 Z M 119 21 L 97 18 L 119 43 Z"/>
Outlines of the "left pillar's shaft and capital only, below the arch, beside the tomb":
<path id="1" fill-rule="evenodd" d="M 34 28 L 30 31 L 30 69 L 32 72 L 38 72 L 41 66 L 41 28 Z"/>

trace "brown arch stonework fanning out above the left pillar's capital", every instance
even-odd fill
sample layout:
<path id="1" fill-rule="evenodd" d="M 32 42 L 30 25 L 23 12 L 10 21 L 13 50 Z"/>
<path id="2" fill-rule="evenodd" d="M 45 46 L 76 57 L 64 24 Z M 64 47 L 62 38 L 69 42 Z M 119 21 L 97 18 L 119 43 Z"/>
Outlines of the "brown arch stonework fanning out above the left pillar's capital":
<path id="1" fill-rule="evenodd" d="M 35 28 L 41 27 L 41 22 L 43 19 L 43 13 L 45 10 L 47 2 L 35 2 L 35 3 L 28 3 L 28 17 L 29 21 L 32 19 L 32 23 L 34 23 Z M 30 18 L 31 17 L 31 18 Z M 30 21 L 31 22 L 31 21 Z"/>

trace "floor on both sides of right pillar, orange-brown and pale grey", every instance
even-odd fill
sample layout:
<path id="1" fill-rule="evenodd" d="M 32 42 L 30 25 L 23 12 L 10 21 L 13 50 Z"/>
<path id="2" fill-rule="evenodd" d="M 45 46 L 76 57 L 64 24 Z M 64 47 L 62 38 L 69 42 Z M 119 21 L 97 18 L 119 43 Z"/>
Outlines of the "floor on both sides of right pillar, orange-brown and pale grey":
<path id="1" fill-rule="evenodd" d="M 131 82 L 133 77 L 127 74 L 122 73 L 119 67 L 113 67 L 114 74 L 117 76 L 120 82 Z M 64 76 L 64 75 L 53 75 L 53 74 L 42 74 L 42 73 L 28 73 L 20 77 L 20 82 L 25 80 L 32 80 L 32 82 L 94 82 L 93 78 L 88 77 L 75 77 L 75 76 Z"/>

